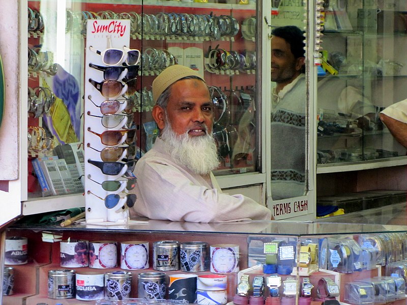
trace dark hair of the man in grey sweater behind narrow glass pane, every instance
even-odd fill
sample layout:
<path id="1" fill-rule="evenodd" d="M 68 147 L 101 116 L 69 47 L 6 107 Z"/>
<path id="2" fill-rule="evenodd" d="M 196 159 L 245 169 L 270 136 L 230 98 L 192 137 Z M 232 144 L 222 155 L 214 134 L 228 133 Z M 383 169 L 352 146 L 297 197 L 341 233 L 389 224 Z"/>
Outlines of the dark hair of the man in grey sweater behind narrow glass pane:
<path id="1" fill-rule="evenodd" d="M 284 39 L 289 45 L 294 57 L 305 56 L 304 32 L 295 25 L 276 27 L 271 31 L 273 36 Z"/>

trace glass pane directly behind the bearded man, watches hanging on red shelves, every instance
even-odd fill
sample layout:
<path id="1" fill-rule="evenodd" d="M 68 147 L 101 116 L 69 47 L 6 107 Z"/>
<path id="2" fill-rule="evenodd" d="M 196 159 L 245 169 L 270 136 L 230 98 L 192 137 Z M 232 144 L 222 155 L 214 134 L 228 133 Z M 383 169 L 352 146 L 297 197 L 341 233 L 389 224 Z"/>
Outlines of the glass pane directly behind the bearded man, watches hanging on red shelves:
<path id="1" fill-rule="evenodd" d="M 198 72 L 215 103 L 213 136 L 220 166 L 215 175 L 257 170 L 256 4 L 242 1 L 170 1 L 165 6 L 144 1 L 142 35 L 141 149 L 158 136 L 154 125 L 151 84 L 167 66 L 179 64 Z M 159 29 L 147 20 L 157 20 Z M 154 22 L 153 22 L 154 23 Z"/>

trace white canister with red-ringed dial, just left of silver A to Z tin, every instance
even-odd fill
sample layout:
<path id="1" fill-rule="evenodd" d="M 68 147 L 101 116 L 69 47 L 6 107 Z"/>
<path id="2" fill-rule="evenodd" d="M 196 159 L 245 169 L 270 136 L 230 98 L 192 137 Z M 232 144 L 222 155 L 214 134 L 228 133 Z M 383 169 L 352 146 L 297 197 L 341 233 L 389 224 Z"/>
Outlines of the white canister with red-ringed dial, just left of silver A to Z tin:
<path id="1" fill-rule="evenodd" d="M 147 269 L 149 265 L 148 241 L 122 241 L 120 267 L 127 270 Z"/>

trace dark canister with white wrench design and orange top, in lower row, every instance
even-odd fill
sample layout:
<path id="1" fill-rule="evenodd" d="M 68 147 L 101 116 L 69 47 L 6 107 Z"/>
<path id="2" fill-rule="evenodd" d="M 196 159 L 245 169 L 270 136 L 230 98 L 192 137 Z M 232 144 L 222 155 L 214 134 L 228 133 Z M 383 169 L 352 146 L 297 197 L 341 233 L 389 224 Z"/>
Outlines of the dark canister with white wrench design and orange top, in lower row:
<path id="1" fill-rule="evenodd" d="M 196 303 L 196 275 L 179 274 L 169 276 L 168 298 L 175 301 Z"/>

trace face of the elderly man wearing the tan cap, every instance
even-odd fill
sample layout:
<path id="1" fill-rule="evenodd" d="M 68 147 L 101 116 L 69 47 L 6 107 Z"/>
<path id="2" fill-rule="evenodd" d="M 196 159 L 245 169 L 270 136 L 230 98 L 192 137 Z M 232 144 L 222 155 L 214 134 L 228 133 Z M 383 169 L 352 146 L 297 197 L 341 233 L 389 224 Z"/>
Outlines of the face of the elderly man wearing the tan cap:
<path id="1" fill-rule="evenodd" d="M 213 103 L 205 82 L 199 79 L 183 79 L 171 87 L 167 104 L 167 115 L 158 114 L 158 127 L 162 130 L 166 119 L 177 135 L 188 133 L 190 137 L 212 132 Z"/>

